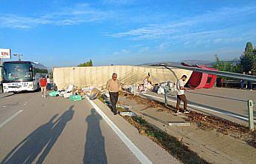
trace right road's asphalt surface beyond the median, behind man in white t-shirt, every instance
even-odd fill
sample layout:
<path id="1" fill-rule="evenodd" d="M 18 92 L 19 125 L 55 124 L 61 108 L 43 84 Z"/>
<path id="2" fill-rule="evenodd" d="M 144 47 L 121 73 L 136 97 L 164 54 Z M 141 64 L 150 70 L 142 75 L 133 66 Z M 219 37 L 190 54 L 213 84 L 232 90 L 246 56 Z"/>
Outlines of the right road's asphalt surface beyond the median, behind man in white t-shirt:
<path id="1" fill-rule="evenodd" d="M 168 96 L 169 105 L 175 106 L 176 104 L 174 94 Z M 246 124 L 248 120 L 247 100 L 252 99 L 256 102 L 256 91 L 240 89 L 209 88 L 185 91 L 185 94 L 189 101 L 190 110 L 213 114 L 241 124 Z M 141 95 L 164 102 L 164 96 L 161 94 L 148 92 Z M 254 117 L 256 120 L 256 104 Z"/>

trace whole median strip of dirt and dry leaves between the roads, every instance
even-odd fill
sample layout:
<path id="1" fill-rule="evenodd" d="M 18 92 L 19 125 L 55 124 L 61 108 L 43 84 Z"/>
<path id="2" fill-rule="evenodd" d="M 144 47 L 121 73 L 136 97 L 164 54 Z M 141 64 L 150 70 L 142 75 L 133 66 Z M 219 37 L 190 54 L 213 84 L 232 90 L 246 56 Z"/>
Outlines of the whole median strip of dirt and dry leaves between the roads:
<path id="1" fill-rule="evenodd" d="M 163 131 L 180 141 L 208 163 L 255 163 L 255 131 L 249 131 L 243 125 L 196 112 L 176 116 L 173 106 L 166 108 L 162 103 L 131 94 L 121 94 L 119 105 L 129 105 L 131 111 L 146 120 L 156 131 Z M 125 119 L 131 121 L 134 118 Z M 177 120 L 192 124 L 190 127 L 168 126 L 168 122 Z M 144 133 L 140 128 L 138 131 Z M 149 131 L 152 130 L 146 130 L 146 136 L 159 136 Z M 157 140 L 155 142 L 158 143 Z M 175 157 L 180 159 L 177 155 Z"/>

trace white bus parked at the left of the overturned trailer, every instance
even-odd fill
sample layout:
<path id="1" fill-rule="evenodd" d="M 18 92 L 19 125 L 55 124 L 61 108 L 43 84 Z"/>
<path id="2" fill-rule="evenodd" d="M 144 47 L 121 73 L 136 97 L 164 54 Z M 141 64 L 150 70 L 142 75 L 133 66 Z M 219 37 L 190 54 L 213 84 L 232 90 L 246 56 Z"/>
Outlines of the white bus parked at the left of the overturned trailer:
<path id="1" fill-rule="evenodd" d="M 35 62 L 4 62 L 2 66 L 3 91 L 36 91 L 40 88 L 40 77 L 48 70 Z"/>

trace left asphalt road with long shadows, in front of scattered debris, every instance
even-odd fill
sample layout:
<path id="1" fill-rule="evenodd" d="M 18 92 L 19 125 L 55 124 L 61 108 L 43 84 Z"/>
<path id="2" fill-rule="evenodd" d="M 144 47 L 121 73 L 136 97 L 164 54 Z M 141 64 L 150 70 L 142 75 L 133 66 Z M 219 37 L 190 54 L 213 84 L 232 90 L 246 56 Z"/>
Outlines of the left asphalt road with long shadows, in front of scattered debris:
<path id="1" fill-rule="evenodd" d="M 0 105 L 0 163 L 179 163 L 88 99 L 26 93 Z"/>

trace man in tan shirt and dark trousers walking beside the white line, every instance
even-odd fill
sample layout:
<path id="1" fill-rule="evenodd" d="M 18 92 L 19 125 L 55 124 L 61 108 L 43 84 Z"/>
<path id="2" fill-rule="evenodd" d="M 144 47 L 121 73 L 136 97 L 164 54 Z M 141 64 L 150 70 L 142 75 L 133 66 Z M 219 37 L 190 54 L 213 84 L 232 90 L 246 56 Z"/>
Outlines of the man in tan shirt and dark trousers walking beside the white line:
<path id="1" fill-rule="evenodd" d="M 113 73 L 112 79 L 107 81 L 107 90 L 109 91 L 109 94 L 110 94 L 110 102 L 112 105 L 111 111 L 113 112 L 114 115 L 116 115 L 117 114 L 116 103 L 118 101 L 119 90 L 120 90 L 120 83 L 117 80 L 116 73 Z"/>

